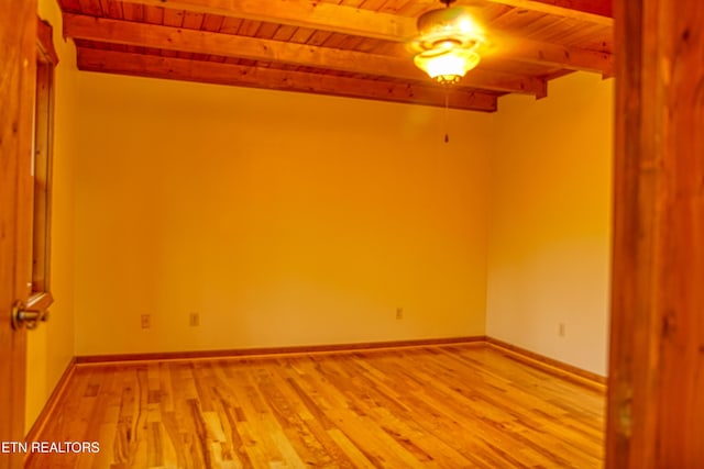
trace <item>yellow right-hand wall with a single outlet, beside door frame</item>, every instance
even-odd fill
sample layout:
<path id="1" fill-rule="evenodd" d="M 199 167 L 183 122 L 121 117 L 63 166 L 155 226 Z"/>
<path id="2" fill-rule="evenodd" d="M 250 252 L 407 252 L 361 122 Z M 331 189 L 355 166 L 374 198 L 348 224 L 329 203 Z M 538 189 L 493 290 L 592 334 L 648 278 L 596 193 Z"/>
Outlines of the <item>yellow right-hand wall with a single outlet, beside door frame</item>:
<path id="1" fill-rule="evenodd" d="M 549 91 L 495 116 L 486 333 L 606 375 L 613 80 Z"/>

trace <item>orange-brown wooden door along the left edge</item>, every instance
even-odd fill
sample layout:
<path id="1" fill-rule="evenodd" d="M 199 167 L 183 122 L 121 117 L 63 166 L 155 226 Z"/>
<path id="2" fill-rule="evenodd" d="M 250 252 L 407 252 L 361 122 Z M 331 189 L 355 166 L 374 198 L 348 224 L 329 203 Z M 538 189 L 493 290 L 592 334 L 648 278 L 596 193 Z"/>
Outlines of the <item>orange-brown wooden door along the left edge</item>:
<path id="1" fill-rule="evenodd" d="M 31 279 L 36 1 L 0 0 L 0 442 L 22 442 L 26 332 L 11 312 Z M 22 467 L 24 454 L 0 449 L 0 469 Z"/>

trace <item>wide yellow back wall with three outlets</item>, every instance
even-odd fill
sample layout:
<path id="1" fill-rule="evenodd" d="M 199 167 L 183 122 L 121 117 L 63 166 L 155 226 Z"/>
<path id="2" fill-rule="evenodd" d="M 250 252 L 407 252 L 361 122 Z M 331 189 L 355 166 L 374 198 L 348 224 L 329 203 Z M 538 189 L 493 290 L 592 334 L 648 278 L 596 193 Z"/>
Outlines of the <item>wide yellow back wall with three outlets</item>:
<path id="1" fill-rule="evenodd" d="M 77 355 L 484 334 L 490 115 L 78 82 Z"/>

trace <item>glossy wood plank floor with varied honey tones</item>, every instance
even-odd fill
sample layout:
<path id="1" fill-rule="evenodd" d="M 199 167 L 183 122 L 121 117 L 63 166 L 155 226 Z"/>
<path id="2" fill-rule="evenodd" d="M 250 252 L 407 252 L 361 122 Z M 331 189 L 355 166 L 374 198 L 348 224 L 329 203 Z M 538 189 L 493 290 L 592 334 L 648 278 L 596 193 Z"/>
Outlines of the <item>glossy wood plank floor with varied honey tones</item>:
<path id="1" fill-rule="evenodd" d="M 488 345 L 78 366 L 28 468 L 597 468 L 605 398 Z"/>

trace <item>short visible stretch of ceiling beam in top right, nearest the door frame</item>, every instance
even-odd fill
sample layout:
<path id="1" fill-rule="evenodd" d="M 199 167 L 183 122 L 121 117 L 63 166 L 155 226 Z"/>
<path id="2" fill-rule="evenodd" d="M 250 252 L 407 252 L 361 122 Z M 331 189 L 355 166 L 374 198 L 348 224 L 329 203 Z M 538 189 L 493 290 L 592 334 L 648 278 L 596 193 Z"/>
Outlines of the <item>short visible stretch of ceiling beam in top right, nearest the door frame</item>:
<path id="1" fill-rule="evenodd" d="M 612 0 L 487 0 L 521 10 L 613 26 Z"/>

